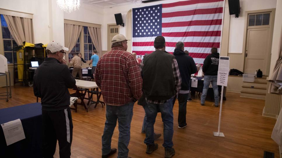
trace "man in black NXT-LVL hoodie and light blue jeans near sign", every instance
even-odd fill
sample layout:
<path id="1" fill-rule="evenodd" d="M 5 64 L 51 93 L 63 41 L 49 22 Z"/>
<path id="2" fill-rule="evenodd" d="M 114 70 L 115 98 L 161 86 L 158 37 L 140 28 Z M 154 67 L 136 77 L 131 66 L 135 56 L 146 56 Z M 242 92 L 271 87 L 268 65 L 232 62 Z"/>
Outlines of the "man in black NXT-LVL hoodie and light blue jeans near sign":
<path id="1" fill-rule="evenodd" d="M 208 87 L 210 82 L 213 86 L 213 93 L 215 97 L 215 107 L 218 107 L 219 96 L 217 87 L 217 71 L 219 63 L 219 53 L 217 53 L 217 48 L 211 49 L 211 54 L 206 57 L 203 64 L 204 77 L 204 88 L 201 96 L 201 105 L 205 105 L 205 100 L 208 92 Z"/>

